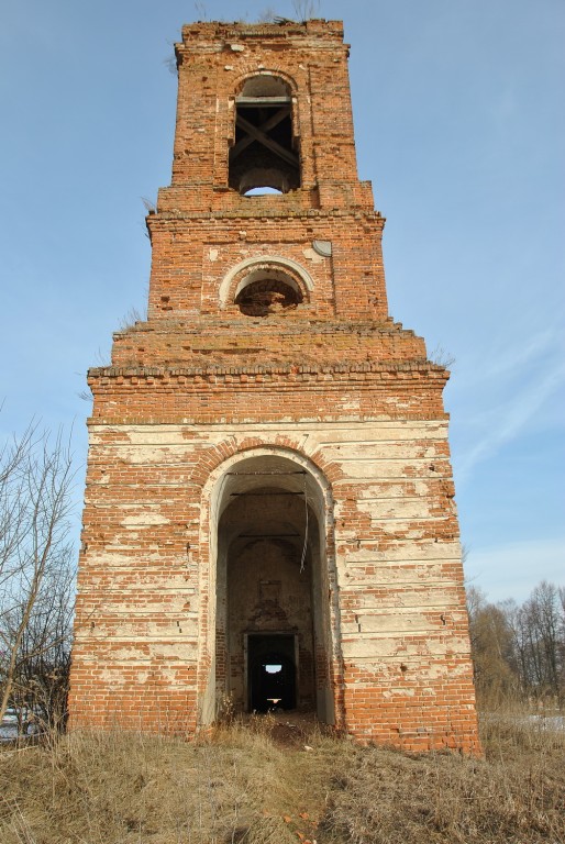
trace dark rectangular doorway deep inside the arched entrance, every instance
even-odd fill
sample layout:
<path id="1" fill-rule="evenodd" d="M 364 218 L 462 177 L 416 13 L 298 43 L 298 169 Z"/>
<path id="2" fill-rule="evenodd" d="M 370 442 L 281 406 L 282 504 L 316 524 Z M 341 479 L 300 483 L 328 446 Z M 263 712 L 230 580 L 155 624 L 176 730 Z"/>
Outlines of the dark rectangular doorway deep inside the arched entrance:
<path id="1" fill-rule="evenodd" d="M 246 634 L 247 699 L 252 712 L 297 707 L 295 635 Z"/>

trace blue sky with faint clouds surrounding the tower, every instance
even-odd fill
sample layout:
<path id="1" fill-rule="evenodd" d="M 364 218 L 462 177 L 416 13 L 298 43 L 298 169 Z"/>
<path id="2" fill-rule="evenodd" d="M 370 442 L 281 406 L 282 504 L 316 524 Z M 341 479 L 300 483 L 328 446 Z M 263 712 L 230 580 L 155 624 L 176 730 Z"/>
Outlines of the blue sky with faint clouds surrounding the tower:
<path id="1" fill-rule="evenodd" d="M 170 179 L 179 0 L 10 0 L 0 29 L 0 435 L 73 426 L 147 293 L 142 197 Z M 445 392 L 467 578 L 565 581 L 563 0 L 321 0 L 343 19 L 359 176 L 387 218 L 390 311 L 455 358 Z M 79 506 L 78 506 L 79 509 Z M 77 515 L 78 534 L 79 515 Z"/>

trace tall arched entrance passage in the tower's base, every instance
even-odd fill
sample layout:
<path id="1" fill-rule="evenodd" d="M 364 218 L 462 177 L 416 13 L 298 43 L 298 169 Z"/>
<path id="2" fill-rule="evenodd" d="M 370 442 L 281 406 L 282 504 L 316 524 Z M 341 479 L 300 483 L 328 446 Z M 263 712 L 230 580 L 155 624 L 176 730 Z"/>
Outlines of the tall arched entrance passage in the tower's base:
<path id="1" fill-rule="evenodd" d="M 330 493 L 309 462 L 281 452 L 231 458 L 211 495 L 209 684 L 217 712 L 229 699 L 235 711 L 310 710 L 333 723 Z"/>

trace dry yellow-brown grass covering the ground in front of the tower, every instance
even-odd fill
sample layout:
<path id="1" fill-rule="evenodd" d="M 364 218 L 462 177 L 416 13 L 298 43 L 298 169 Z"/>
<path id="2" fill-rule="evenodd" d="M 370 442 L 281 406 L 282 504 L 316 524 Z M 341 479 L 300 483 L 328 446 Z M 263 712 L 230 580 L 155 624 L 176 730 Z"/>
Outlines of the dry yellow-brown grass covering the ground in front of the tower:
<path id="1" fill-rule="evenodd" d="M 563 731 L 497 717 L 484 743 L 480 760 L 407 756 L 267 717 L 196 743 L 115 733 L 4 747 L 0 841 L 565 842 Z"/>

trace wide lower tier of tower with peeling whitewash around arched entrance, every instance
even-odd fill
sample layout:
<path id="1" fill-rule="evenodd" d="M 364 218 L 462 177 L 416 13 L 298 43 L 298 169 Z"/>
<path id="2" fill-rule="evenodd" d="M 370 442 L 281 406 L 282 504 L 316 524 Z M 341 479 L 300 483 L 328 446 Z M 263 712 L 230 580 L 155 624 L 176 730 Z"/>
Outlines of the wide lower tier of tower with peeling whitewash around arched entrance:
<path id="1" fill-rule="evenodd" d="M 73 725 L 478 752 L 437 370 L 96 371 Z"/>

